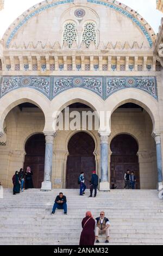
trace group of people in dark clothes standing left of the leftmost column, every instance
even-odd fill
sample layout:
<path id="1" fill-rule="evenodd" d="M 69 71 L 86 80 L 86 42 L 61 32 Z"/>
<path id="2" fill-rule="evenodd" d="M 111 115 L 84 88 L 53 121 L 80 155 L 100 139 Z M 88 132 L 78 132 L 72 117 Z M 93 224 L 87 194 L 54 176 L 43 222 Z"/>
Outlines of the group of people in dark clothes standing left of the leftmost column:
<path id="1" fill-rule="evenodd" d="M 20 190 L 23 192 L 24 182 L 25 182 L 25 189 L 34 188 L 33 186 L 33 179 L 32 179 L 33 172 L 30 167 L 27 167 L 26 172 L 21 168 L 20 171 L 18 170 L 15 172 L 15 175 L 12 177 L 13 187 L 13 194 L 20 193 Z"/>

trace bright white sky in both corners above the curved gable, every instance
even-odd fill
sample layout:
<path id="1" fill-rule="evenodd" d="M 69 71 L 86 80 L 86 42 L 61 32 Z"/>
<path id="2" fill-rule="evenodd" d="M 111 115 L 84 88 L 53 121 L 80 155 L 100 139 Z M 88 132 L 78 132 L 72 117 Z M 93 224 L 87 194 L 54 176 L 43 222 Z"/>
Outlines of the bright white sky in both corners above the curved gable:
<path id="1" fill-rule="evenodd" d="M 18 16 L 33 5 L 41 2 L 41 0 L 4 1 L 4 10 L 0 11 L 0 38 L 2 38 L 10 24 L 14 22 Z M 156 10 L 156 0 L 121 0 L 120 2 L 137 11 L 151 25 L 155 33 L 158 33 L 163 14 Z"/>

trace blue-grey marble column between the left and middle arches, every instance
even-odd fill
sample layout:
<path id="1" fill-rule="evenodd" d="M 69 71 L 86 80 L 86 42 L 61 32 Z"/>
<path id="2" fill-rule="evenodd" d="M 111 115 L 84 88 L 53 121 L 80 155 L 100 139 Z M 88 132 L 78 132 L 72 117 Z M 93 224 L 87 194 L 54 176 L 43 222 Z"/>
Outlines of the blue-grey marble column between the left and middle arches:
<path id="1" fill-rule="evenodd" d="M 46 149 L 45 149 L 45 168 L 44 180 L 41 190 L 52 190 L 52 161 L 53 161 L 53 142 L 54 134 L 45 134 Z"/>

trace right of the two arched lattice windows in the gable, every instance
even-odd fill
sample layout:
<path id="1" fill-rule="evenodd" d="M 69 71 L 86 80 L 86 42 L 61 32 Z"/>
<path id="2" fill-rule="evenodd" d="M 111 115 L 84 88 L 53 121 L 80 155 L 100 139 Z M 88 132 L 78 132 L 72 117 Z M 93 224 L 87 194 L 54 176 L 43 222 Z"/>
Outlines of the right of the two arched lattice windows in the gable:
<path id="1" fill-rule="evenodd" d="M 93 22 L 88 22 L 84 26 L 83 32 L 83 42 L 85 42 L 86 47 L 89 48 L 91 42 L 94 42 L 96 45 L 96 26 Z"/>

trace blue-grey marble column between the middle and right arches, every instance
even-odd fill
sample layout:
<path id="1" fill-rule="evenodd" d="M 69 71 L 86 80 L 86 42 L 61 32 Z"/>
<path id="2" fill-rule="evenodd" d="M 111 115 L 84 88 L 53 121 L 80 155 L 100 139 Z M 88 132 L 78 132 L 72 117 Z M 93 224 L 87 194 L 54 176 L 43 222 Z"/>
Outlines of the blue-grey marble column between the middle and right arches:
<path id="1" fill-rule="evenodd" d="M 109 157 L 109 135 L 99 134 L 101 139 L 101 183 L 99 190 L 109 191 L 109 167 L 108 167 L 108 157 Z"/>

